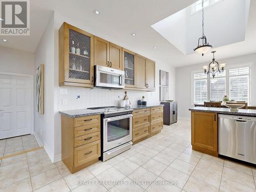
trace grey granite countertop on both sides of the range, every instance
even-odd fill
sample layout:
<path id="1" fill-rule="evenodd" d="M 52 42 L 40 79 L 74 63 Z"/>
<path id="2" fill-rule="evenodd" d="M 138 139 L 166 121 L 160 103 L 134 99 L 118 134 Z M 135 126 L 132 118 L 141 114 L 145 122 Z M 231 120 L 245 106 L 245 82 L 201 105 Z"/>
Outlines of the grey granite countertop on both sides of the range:
<path id="1" fill-rule="evenodd" d="M 163 104 L 132 105 L 131 109 L 138 110 L 138 109 L 154 108 L 155 106 L 163 106 Z M 98 109 L 98 110 L 80 109 L 80 110 L 59 111 L 61 115 L 66 115 L 70 118 L 85 117 L 90 115 L 100 115 L 100 114 L 103 114 L 103 112 L 104 112 L 104 109 Z"/>

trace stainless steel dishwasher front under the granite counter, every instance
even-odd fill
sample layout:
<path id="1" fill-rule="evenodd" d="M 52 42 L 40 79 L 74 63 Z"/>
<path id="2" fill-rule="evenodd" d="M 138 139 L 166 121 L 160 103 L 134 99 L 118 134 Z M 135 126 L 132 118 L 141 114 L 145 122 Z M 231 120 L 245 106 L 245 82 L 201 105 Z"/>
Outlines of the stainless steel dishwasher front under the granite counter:
<path id="1" fill-rule="evenodd" d="M 219 154 L 256 164 L 256 118 L 219 115 Z"/>

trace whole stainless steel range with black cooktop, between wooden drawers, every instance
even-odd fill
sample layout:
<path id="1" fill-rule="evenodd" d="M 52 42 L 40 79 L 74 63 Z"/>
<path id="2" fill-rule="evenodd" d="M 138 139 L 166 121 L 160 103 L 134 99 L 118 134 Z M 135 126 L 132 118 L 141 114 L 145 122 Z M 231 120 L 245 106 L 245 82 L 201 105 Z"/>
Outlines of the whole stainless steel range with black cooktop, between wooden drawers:
<path id="1" fill-rule="evenodd" d="M 105 106 L 101 115 L 101 158 L 106 161 L 132 147 L 132 109 Z"/>

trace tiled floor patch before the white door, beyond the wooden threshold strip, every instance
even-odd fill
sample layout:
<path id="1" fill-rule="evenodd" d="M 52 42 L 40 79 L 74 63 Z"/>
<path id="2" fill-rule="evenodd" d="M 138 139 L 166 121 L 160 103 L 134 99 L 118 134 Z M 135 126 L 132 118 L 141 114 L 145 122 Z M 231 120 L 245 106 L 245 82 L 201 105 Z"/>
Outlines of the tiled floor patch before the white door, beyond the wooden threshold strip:
<path id="1" fill-rule="evenodd" d="M 34 135 L 0 140 L 0 157 L 39 147 Z"/>

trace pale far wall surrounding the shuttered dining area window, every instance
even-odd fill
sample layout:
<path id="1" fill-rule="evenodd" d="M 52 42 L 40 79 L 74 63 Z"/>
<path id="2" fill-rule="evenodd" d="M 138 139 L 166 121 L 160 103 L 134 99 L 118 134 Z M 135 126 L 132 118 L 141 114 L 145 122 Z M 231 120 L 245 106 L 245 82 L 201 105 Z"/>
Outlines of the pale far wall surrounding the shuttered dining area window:
<path id="1" fill-rule="evenodd" d="M 227 66 L 241 65 L 247 62 L 252 63 L 251 105 L 256 105 L 256 54 L 232 57 L 221 60 L 218 60 L 218 58 L 216 58 L 216 60 L 219 63 L 227 63 Z M 179 117 L 190 118 L 190 112 L 188 111 L 188 109 L 193 106 L 191 105 L 191 71 L 202 70 L 202 66 L 205 65 L 208 65 L 208 63 L 201 63 L 198 65 L 176 68 L 176 99 L 178 101 Z"/>

